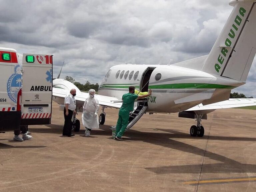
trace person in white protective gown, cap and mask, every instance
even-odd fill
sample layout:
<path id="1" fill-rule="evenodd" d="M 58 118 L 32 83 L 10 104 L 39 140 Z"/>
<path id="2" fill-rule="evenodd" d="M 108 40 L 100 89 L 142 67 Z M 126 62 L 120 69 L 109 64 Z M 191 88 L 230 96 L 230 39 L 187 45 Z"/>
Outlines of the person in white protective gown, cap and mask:
<path id="1" fill-rule="evenodd" d="M 90 136 L 92 129 L 99 128 L 98 111 L 99 101 L 94 97 L 96 91 L 89 90 L 89 97 L 85 100 L 83 106 L 82 122 L 85 127 L 85 136 Z"/>

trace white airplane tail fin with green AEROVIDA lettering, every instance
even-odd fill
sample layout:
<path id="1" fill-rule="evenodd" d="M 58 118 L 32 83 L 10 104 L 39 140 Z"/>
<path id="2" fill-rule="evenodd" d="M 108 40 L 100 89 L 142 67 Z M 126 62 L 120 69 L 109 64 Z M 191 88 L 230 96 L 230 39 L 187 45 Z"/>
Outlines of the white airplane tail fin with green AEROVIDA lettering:
<path id="1" fill-rule="evenodd" d="M 202 71 L 246 81 L 256 53 L 256 0 L 231 0 L 234 6 Z"/>

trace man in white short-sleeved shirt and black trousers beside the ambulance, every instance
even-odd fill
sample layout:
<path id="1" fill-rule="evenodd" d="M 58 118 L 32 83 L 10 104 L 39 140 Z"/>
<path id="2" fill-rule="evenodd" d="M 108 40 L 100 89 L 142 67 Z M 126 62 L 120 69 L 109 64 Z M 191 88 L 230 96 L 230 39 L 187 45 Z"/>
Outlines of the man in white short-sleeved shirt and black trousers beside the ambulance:
<path id="1" fill-rule="evenodd" d="M 68 94 L 65 97 L 65 108 L 64 108 L 64 118 L 65 118 L 65 123 L 63 127 L 63 136 L 68 136 L 72 137 L 74 134 L 71 133 L 72 130 L 72 116 L 73 114 L 76 114 L 76 90 L 71 89 L 70 94 Z"/>

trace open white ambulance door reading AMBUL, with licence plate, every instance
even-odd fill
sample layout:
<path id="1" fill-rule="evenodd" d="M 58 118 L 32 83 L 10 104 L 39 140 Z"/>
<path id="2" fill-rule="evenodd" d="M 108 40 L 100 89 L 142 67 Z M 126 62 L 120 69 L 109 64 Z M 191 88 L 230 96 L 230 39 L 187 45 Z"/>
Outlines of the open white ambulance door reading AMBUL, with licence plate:
<path id="1" fill-rule="evenodd" d="M 51 123 L 52 55 L 23 54 L 21 125 Z"/>

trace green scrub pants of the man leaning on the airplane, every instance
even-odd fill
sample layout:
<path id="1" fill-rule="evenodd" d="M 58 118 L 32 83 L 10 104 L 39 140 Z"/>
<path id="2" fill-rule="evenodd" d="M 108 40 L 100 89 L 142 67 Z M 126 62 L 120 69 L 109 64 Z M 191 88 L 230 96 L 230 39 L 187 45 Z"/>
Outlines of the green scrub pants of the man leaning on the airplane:
<path id="1" fill-rule="evenodd" d="M 120 109 L 118 113 L 118 120 L 116 124 L 116 136 L 122 137 L 129 122 L 129 111 Z"/>

